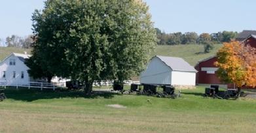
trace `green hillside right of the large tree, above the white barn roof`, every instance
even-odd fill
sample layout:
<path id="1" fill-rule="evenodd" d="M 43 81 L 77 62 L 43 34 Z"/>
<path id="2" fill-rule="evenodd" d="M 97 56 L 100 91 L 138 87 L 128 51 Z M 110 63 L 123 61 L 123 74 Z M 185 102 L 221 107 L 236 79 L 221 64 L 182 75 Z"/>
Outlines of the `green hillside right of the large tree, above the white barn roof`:
<path id="1" fill-rule="evenodd" d="M 204 46 L 199 44 L 189 44 L 189 45 L 176 45 L 176 46 L 157 46 L 154 55 L 165 55 L 173 57 L 182 57 L 192 66 L 202 59 L 206 59 L 215 55 L 217 50 L 221 48 L 222 44 L 215 44 L 214 49 L 210 53 L 204 52 Z"/>

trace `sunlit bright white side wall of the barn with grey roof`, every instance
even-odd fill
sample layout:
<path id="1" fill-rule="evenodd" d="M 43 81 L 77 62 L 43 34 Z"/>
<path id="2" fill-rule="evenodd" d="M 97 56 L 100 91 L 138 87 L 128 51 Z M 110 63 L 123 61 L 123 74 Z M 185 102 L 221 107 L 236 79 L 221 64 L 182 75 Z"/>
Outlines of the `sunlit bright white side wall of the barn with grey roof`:
<path id="1" fill-rule="evenodd" d="M 196 72 L 172 71 L 172 85 L 196 85 Z"/>

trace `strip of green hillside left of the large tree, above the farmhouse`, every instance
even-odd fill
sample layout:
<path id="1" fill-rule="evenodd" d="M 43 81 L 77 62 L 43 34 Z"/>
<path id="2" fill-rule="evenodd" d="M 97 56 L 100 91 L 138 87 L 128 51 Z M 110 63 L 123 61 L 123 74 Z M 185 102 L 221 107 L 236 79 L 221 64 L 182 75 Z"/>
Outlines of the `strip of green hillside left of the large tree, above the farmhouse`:
<path id="1" fill-rule="evenodd" d="M 30 49 L 24 49 L 24 48 L 14 48 L 14 47 L 0 47 L 0 61 L 5 59 L 10 53 L 30 53 Z"/>

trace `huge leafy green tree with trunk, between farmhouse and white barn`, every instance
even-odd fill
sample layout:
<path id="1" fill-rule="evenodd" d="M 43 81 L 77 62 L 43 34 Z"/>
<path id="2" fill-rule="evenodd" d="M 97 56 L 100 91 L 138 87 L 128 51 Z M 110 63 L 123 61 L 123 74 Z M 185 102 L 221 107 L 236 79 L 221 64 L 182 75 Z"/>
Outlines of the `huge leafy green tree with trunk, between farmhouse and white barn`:
<path id="1" fill-rule="evenodd" d="M 84 81 L 88 92 L 95 80 L 129 79 L 156 44 L 148 10 L 140 0 L 48 0 L 32 17 L 35 43 L 27 64 Z"/>

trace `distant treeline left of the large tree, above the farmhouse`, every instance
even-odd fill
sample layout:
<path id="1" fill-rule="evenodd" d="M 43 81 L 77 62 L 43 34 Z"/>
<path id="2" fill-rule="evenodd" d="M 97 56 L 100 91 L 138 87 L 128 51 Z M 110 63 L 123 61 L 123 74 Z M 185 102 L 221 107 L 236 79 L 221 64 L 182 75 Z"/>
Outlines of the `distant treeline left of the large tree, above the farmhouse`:
<path id="1" fill-rule="evenodd" d="M 31 44 L 33 43 L 32 36 L 29 35 L 27 37 L 19 37 L 17 35 L 12 35 L 7 37 L 5 41 L 0 40 L 2 46 L 7 47 L 17 47 L 17 48 L 31 48 Z"/>

